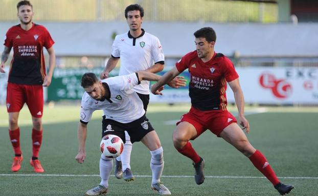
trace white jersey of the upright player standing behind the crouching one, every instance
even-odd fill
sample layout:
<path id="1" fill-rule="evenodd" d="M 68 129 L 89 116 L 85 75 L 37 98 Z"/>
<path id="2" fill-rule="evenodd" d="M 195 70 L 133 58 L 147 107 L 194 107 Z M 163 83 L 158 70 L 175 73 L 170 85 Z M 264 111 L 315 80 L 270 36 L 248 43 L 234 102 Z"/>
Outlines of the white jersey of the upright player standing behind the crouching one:
<path id="1" fill-rule="evenodd" d="M 112 44 L 111 55 L 120 58 L 119 75 L 146 70 L 154 63 L 164 63 L 165 61 L 159 39 L 145 31 L 138 38 L 133 38 L 129 32 L 117 35 Z M 140 85 L 133 89 L 137 93 L 150 94 L 149 83 L 149 81 L 143 80 Z"/>

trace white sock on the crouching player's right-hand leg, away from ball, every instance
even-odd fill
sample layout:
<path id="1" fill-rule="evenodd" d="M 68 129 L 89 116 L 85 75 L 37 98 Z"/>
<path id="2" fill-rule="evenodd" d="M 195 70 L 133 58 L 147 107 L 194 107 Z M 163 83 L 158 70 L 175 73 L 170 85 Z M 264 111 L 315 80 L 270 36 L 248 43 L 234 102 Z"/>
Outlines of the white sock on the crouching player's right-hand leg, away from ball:
<path id="1" fill-rule="evenodd" d="M 150 167 L 152 171 L 151 184 L 154 184 L 160 182 L 162 171 L 164 170 L 164 149 L 160 147 L 157 150 L 150 151 L 150 154 Z"/>

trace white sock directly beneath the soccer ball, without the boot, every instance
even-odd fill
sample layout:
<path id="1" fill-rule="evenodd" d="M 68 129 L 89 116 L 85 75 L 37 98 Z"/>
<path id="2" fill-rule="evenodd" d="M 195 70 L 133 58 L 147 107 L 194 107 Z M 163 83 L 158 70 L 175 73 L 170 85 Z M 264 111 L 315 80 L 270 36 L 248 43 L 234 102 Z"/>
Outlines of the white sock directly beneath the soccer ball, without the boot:
<path id="1" fill-rule="evenodd" d="M 101 183 L 106 188 L 108 187 L 108 179 L 112 170 L 112 159 L 101 155 L 99 160 L 99 175 L 101 177 Z"/>

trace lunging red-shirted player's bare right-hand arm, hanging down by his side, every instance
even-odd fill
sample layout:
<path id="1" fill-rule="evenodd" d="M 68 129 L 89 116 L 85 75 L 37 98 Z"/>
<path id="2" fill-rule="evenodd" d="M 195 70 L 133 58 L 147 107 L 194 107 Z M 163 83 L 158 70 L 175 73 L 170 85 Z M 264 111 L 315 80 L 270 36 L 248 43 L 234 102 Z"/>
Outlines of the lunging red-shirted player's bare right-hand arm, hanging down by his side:
<path id="1" fill-rule="evenodd" d="M 239 79 L 235 79 L 229 82 L 229 85 L 234 93 L 235 103 L 239 113 L 240 125 L 243 129 L 246 129 L 245 132 L 249 133 L 249 123 L 244 117 L 244 96 L 240 86 Z"/>

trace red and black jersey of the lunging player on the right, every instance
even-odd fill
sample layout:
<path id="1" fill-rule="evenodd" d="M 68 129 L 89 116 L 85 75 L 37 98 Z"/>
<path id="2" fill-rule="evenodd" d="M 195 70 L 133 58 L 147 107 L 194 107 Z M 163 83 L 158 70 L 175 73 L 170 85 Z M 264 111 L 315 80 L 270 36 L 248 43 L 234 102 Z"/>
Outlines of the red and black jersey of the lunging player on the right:
<path id="1" fill-rule="evenodd" d="M 226 81 L 239 77 L 230 59 L 214 53 L 205 63 L 192 51 L 176 63 L 176 68 L 180 73 L 189 69 L 189 96 L 193 107 L 202 111 L 226 110 Z"/>

